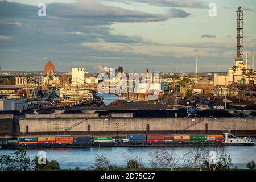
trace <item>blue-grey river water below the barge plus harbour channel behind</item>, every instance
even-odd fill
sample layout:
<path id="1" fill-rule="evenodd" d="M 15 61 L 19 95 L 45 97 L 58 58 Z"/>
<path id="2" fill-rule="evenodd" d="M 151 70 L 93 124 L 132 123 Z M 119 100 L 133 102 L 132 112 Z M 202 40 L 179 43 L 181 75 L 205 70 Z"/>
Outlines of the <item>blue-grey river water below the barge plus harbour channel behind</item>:
<path id="1" fill-rule="evenodd" d="M 115 95 L 101 94 L 104 97 L 105 104 L 117 100 Z M 254 138 L 256 141 L 256 138 Z M 88 169 L 94 163 L 96 155 L 105 154 L 110 163 L 116 166 L 124 166 L 123 154 L 133 152 L 139 155 L 147 167 L 150 167 L 150 160 L 152 152 L 159 150 L 174 150 L 177 156 L 182 158 L 189 150 L 194 150 L 195 147 L 102 147 L 102 148 L 67 148 L 67 149 L 47 149 L 44 150 L 49 160 L 57 160 L 60 163 L 61 169 Z M 234 166 L 238 168 L 246 168 L 247 162 L 256 160 L 256 146 L 232 146 L 220 147 L 220 150 L 231 156 Z M 26 150 L 30 158 L 34 158 L 41 150 Z M 0 149 L 0 155 L 10 154 L 15 150 Z M 183 160 L 179 160 L 179 164 L 183 164 Z"/>

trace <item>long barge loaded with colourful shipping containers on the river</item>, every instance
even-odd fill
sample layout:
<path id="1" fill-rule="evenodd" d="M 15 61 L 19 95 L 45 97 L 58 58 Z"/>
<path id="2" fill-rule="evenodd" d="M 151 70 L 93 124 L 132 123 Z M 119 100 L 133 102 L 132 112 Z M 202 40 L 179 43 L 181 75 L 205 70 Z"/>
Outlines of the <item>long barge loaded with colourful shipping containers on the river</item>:
<path id="1" fill-rule="evenodd" d="M 19 137 L 1 143 L 1 148 L 83 148 L 83 147 L 159 147 L 159 146 L 253 146 L 247 137 L 229 138 L 223 135 L 127 135 L 113 139 L 112 136 L 61 135 L 44 137 Z"/>

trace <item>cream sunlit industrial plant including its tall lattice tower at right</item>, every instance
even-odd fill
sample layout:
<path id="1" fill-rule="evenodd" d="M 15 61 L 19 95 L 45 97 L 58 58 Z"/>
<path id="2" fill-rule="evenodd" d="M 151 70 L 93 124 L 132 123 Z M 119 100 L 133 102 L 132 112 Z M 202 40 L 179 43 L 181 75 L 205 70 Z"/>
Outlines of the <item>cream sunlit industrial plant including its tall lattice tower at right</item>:
<path id="1" fill-rule="evenodd" d="M 243 11 L 241 7 L 237 12 L 237 55 L 235 64 L 226 75 L 214 75 L 214 95 L 216 96 L 238 96 L 239 94 L 255 94 L 256 80 L 254 71 L 254 54 L 251 55 L 251 66 L 249 55 L 246 53 L 246 62 L 243 61 Z"/>

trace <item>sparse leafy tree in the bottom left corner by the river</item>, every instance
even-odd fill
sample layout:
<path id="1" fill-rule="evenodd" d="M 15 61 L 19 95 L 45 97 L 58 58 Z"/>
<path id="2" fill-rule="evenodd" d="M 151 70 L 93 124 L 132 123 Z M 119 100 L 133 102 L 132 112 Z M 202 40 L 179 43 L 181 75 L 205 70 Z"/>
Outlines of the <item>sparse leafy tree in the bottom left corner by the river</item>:
<path id="1" fill-rule="evenodd" d="M 0 156 L 0 171 L 29 171 L 31 168 L 32 163 L 25 150 Z"/>

